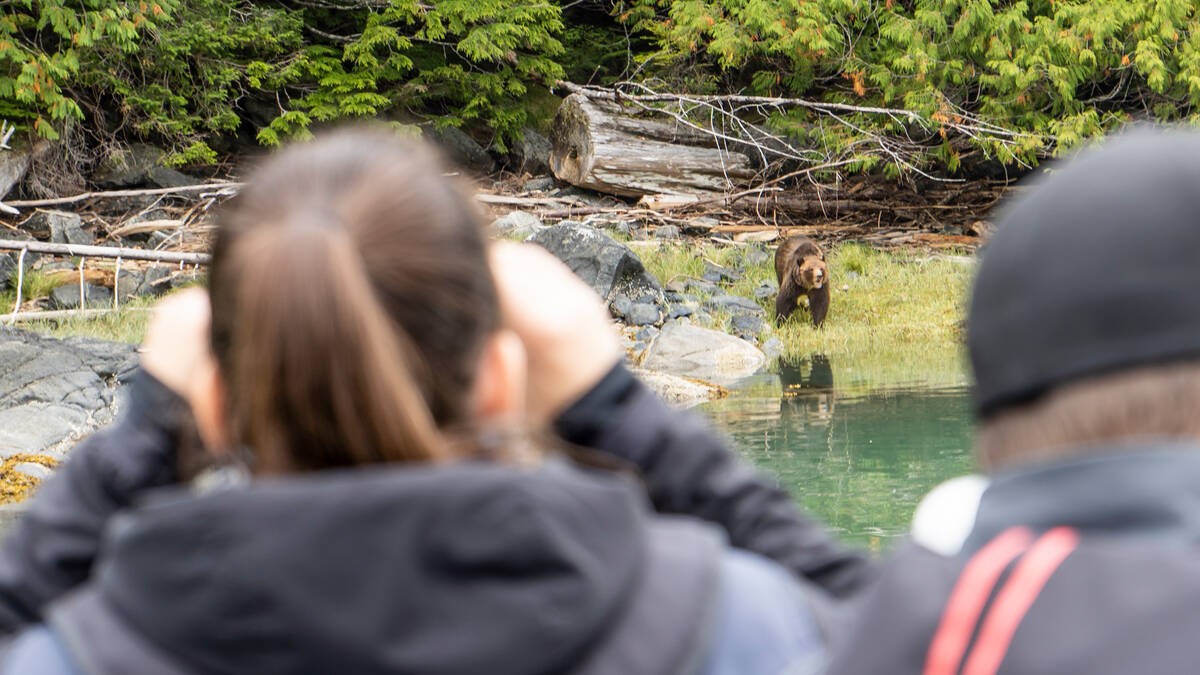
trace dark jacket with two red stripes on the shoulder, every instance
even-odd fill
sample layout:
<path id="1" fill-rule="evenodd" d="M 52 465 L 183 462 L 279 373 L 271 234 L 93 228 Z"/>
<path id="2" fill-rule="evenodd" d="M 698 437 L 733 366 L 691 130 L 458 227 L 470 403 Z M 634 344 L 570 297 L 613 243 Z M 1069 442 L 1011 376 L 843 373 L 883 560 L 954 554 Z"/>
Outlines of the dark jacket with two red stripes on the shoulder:
<path id="1" fill-rule="evenodd" d="M 1200 447 L 1080 456 L 996 477 L 958 555 L 899 550 L 830 673 L 1195 673 Z"/>

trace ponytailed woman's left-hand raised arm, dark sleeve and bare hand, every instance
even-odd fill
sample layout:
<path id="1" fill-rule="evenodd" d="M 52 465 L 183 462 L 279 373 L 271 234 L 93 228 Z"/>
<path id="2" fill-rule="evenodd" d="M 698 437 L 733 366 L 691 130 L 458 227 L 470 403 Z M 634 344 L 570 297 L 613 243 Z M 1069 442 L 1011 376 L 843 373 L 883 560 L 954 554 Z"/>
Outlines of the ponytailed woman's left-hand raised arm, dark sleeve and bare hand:
<path id="1" fill-rule="evenodd" d="M 114 514 L 178 480 L 185 422 L 192 412 L 212 413 L 194 405 L 216 378 L 208 335 L 202 289 L 176 293 L 155 310 L 120 422 L 71 450 L 0 545 L 0 637 L 40 621 L 47 604 L 91 575 Z"/>

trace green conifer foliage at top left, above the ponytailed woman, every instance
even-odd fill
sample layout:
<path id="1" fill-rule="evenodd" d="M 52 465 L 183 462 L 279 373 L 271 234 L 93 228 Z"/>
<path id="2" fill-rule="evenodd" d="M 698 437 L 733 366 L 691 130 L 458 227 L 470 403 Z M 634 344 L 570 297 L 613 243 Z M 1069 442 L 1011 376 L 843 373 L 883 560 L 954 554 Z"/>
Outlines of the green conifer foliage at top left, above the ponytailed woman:
<path id="1" fill-rule="evenodd" d="M 529 0 L 14 0 L 0 14 L 0 119 L 56 138 L 170 144 L 174 161 L 251 118 L 266 145 L 392 115 L 491 130 L 562 76 L 557 4 Z M 265 113 L 264 113 L 265 110 Z"/>

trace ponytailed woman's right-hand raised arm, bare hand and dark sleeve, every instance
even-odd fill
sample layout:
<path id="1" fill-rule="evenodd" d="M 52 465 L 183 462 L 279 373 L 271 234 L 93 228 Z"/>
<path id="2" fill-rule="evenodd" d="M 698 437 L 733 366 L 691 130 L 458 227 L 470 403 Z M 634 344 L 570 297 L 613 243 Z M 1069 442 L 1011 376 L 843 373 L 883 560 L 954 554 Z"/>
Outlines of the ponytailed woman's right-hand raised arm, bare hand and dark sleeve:
<path id="1" fill-rule="evenodd" d="M 506 327 L 528 352 L 534 424 L 632 462 L 660 512 L 715 522 L 734 546 L 766 555 L 835 596 L 865 581 L 868 557 L 805 518 L 703 420 L 672 411 L 618 365 L 620 347 L 604 304 L 565 265 L 518 245 L 497 246 L 492 263 Z"/>

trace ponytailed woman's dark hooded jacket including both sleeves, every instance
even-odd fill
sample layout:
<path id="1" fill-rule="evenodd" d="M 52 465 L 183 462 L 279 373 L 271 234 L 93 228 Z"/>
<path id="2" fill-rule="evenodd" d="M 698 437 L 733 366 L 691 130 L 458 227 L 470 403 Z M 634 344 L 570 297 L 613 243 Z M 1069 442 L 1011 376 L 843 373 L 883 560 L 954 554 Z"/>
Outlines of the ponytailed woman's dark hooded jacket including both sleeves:
<path id="1" fill-rule="evenodd" d="M 634 655 L 654 663 L 625 671 L 668 673 L 695 658 L 721 537 L 649 516 L 618 474 L 372 467 L 197 496 L 172 485 L 182 412 L 139 376 L 124 422 L 77 448 L 42 488 L 0 551 L 6 632 L 48 621 L 101 673 L 173 673 L 176 663 L 500 675 L 582 663 L 599 673 Z M 863 557 L 624 369 L 558 428 L 642 467 L 660 510 L 708 518 L 733 545 L 832 592 L 869 574 Z M 469 607 L 464 585 L 475 591 Z M 460 634 L 470 635 L 469 653 Z"/>

